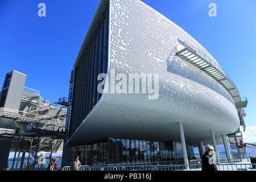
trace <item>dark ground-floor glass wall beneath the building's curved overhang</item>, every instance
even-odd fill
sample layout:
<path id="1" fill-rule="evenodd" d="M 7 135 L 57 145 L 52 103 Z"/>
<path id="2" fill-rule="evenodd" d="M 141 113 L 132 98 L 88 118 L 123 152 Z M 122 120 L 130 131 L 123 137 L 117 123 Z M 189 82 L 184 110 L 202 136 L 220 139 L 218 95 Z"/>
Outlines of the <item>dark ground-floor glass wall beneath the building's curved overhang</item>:
<path id="1" fill-rule="evenodd" d="M 191 146 L 189 146 L 191 149 Z M 193 156 L 189 150 L 188 156 Z M 183 160 L 181 143 L 108 138 L 72 147 L 72 159 L 79 155 L 82 165 L 157 163 Z"/>

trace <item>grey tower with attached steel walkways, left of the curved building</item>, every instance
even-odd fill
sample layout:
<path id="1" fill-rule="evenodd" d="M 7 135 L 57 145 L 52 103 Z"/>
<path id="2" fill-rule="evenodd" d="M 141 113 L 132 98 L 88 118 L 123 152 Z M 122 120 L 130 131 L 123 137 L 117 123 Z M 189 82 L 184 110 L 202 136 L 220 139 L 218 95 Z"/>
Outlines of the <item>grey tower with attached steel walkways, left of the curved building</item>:
<path id="1" fill-rule="evenodd" d="M 26 77 L 17 71 L 7 73 L 0 92 L 0 170 L 7 165 L 23 169 L 25 164 L 35 169 L 40 151 L 51 158 L 52 152 L 63 150 L 67 99 L 49 103 L 38 90 L 24 86 Z M 8 162 L 10 152 L 15 152 L 13 163 Z"/>

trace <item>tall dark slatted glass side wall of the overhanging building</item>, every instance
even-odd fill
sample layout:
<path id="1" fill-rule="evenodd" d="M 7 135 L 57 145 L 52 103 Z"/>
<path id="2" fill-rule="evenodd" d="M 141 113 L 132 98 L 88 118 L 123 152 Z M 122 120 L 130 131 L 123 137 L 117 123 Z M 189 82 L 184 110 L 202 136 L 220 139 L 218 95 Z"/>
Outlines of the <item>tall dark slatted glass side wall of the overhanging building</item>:
<path id="1" fill-rule="evenodd" d="M 106 6 L 98 16 L 75 67 L 69 137 L 101 98 L 97 77 L 108 68 L 108 11 Z"/>

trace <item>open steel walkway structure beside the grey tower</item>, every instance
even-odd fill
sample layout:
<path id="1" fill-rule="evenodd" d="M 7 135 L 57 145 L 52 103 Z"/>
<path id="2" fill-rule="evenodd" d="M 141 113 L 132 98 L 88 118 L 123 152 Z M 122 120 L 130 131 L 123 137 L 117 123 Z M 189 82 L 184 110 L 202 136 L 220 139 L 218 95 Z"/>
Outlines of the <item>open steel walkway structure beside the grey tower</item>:
<path id="1" fill-rule="evenodd" d="M 15 155 L 11 169 L 16 169 L 18 166 L 17 162 L 16 167 L 14 163 L 15 160 L 19 160 L 19 155 L 16 158 L 16 154 L 20 154 L 18 148 L 24 148 L 22 141 L 30 143 L 30 150 L 27 151 L 28 149 L 24 148 L 23 152 L 28 152 L 29 156 L 34 158 L 32 163 L 28 160 L 27 169 L 35 169 L 38 164 L 38 151 L 43 149 L 51 151 L 52 154 L 63 143 L 67 117 L 67 110 L 64 108 L 67 107 L 67 99 L 61 97 L 59 102 L 50 104 L 40 96 L 38 90 L 24 87 L 21 102 L 25 106 L 20 107 L 22 110 L 0 107 L 0 118 L 13 119 L 15 123 L 19 123 L 19 127 L 22 126 L 22 128 L 15 127 L 15 129 L 0 129 L 0 137 L 11 138 L 13 141 Z M 59 107 L 59 105 L 62 106 Z"/>

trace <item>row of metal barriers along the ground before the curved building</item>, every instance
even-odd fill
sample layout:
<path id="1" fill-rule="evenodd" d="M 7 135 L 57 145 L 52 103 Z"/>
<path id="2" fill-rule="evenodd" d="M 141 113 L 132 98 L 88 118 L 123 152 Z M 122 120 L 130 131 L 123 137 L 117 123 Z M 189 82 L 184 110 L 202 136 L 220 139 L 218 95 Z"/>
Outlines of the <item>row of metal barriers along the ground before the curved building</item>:
<path id="1" fill-rule="evenodd" d="M 218 171 L 256 171 L 256 164 L 216 164 Z M 81 166 L 80 171 L 201 171 L 201 164 L 139 165 L 139 166 Z M 62 171 L 70 171 L 69 166 Z"/>

